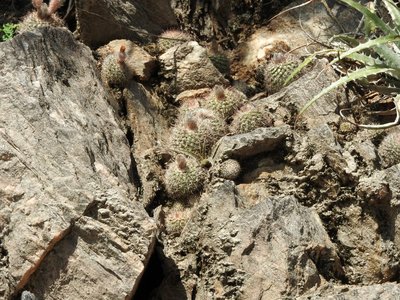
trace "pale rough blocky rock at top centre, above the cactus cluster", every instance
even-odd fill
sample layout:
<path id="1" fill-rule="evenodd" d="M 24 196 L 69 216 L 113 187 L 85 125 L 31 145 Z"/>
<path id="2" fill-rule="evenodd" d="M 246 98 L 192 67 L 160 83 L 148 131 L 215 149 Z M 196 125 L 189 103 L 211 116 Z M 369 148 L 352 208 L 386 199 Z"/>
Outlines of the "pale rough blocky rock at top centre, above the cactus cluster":
<path id="1" fill-rule="evenodd" d="M 175 93 L 228 84 L 208 58 L 207 50 L 194 41 L 170 48 L 160 56 L 160 62 Z"/>

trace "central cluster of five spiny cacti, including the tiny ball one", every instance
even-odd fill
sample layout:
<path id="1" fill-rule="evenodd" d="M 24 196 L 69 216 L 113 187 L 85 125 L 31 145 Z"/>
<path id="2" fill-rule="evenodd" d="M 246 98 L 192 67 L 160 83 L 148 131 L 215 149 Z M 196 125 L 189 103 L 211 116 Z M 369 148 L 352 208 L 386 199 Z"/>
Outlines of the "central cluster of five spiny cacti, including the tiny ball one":
<path id="1" fill-rule="evenodd" d="M 165 174 L 171 197 L 184 198 L 201 189 L 210 167 L 210 172 L 221 178 L 234 180 L 239 176 L 236 160 L 228 159 L 216 167 L 204 161 L 210 161 L 212 147 L 227 132 L 243 133 L 272 124 L 268 112 L 246 103 L 246 96 L 234 88 L 215 86 L 209 95 L 197 99 L 196 105 L 182 106 L 169 142 L 169 148 L 180 154 Z M 240 107 L 243 109 L 238 112 Z"/>

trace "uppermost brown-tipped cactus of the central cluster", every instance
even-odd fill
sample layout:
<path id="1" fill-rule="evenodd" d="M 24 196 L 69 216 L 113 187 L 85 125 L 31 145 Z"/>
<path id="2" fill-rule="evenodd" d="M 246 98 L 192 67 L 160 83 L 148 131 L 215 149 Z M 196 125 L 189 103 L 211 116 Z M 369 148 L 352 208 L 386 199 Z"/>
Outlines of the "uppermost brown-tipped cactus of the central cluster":
<path id="1" fill-rule="evenodd" d="M 246 96 L 238 90 L 216 85 L 206 99 L 205 107 L 227 120 L 246 100 Z"/>

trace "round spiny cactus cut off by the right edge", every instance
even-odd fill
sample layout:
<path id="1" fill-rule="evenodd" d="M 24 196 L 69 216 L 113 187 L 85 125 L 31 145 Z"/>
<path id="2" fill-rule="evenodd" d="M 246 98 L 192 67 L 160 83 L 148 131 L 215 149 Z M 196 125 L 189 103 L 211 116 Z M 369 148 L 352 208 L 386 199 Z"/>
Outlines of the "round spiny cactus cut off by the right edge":
<path id="1" fill-rule="evenodd" d="M 378 149 L 385 168 L 400 164 L 400 131 L 391 131 L 382 140 Z"/>

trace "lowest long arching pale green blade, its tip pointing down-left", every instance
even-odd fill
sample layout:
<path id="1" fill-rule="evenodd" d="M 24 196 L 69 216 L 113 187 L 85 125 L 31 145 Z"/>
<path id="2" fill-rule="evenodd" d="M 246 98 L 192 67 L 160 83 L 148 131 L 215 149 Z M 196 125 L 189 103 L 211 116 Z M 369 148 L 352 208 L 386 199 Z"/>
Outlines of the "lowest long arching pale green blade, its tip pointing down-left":
<path id="1" fill-rule="evenodd" d="M 321 98 L 325 94 L 329 93 L 330 91 L 336 89 L 337 87 L 339 87 L 339 86 L 341 86 L 341 85 L 343 85 L 343 84 L 345 84 L 347 82 L 350 82 L 350 81 L 353 81 L 353 80 L 356 80 L 356 79 L 359 79 L 359 78 L 367 77 L 367 76 L 370 76 L 370 75 L 379 74 L 379 73 L 390 73 L 392 71 L 395 71 L 395 70 L 391 69 L 391 68 L 382 68 L 382 67 L 378 67 L 378 66 L 370 66 L 370 67 L 365 67 L 365 68 L 356 70 L 356 71 L 348 74 L 347 76 L 344 76 L 344 77 L 340 78 L 339 80 L 335 81 L 330 86 L 326 87 L 320 93 L 318 93 L 316 96 L 314 96 L 300 110 L 297 118 L 299 118 L 319 98 Z"/>

